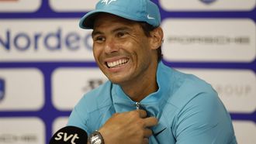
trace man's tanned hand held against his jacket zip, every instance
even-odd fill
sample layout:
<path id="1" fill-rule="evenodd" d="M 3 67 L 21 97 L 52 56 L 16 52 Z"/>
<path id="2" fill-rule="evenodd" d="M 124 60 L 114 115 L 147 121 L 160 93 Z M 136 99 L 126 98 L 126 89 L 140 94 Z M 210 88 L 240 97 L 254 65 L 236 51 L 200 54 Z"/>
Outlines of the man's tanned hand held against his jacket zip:
<path id="1" fill-rule="evenodd" d="M 106 144 L 147 144 L 152 135 L 151 126 L 157 118 L 147 117 L 144 110 L 116 113 L 99 129 Z"/>

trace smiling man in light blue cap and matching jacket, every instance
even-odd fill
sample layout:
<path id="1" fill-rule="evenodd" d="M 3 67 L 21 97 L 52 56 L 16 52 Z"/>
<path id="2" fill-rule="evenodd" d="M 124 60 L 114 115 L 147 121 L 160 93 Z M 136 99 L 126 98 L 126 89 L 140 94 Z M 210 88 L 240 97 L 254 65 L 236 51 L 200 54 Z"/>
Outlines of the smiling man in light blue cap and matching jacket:
<path id="1" fill-rule="evenodd" d="M 92 144 L 235 144 L 230 115 L 205 81 L 161 62 L 163 31 L 149 0 L 101 0 L 80 21 L 109 78 L 85 94 L 68 125 Z"/>

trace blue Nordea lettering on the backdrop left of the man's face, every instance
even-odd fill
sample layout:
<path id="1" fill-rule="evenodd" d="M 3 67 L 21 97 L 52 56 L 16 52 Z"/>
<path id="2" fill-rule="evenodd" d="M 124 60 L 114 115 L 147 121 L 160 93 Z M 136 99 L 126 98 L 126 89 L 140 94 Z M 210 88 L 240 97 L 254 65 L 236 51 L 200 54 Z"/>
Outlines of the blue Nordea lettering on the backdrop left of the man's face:
<path id="1" fill-rule="evenodd" d="M 32 37 L 29 36 L 29 33 L 20 32 L 20 33 L 12 33 L 11 30 L 6 30 L 5 35 L 3 35 L 2 39 L 0 39 L 0 43 L 2 44 L 4 50 L 11 51 L 12 49 L 16 49 L 18 51 L 27 51 L 33 47 L 33 50 L 39 51 L 40 41 L 43 42 L 45 49 L 50 51 L 61 50 L 61 46 L 65 43 L 68 50 L 78 50 L 80 47 L 78 45 L 73 44 L 73 40 L 78 38 L 77 33 L 68 33 L 67 36 L 62 37 L 63 29 L 56 29 L 54 32 L 49 33 L 35 33 Z M 88 36 L 85 36 L 85 39 L 88 40 Z M 64 40 L 64 41 L 62 41 Z M 13 48 L 12 48 L 13 44 Z M 88 46 L 88 43 L 84 43 L 85 46 Z M 88 47 L 92 50 L 92 46 Z"/>

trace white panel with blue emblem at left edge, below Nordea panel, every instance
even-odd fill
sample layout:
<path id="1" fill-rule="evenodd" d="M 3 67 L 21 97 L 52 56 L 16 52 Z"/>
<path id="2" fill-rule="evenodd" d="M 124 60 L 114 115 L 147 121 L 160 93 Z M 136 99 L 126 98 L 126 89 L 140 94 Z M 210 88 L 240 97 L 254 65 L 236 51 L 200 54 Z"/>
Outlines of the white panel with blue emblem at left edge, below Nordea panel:
<path id="1" fill-rule="evenodd" d="M 40 70 L 0 69 L 0 77 L 5 77 L 5 82 L 0 82 L 4 84 L 1 91 L 5 94 L 5 101 L 0 100 L 0 111 L 36 111 L 43 107 L 43 74 Z"/>

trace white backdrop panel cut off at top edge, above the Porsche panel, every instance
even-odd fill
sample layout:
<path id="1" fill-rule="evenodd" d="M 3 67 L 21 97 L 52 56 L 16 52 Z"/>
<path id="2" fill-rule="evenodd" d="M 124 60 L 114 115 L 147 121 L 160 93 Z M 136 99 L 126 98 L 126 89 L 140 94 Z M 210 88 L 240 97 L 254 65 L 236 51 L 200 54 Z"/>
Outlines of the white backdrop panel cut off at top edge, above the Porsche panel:
<path id="1" fill-rule="evenodd" d="M 166 11 L 251 11 L 256 0 L 159 0 Z"/>

